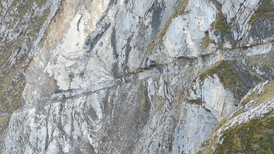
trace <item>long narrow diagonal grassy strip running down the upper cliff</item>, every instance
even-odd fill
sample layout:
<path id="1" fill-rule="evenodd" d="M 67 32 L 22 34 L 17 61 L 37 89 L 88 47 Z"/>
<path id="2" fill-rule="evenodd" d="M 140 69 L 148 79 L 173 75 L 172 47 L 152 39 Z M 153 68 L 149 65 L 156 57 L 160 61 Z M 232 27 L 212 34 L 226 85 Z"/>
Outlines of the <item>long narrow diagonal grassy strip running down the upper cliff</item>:
<path id="1" fill-rule="evenodd" d="M 176 10 L 174 11 L 174 13 L 169 17 L 168 21 L 166 22 L 166 24 L 164 25 L 163 29 L 161 31 L 157 31 L 157 36 L 155 36 L 152 41 L 150 42 L 150 44 L 148 45 L 148 49 L 145 53 L 145 56 L 151 54 L 152 50 L 154 49 L 154 47 L 156 47 L 157 45 L 161 44 L 163 42 L 163 38 L 166 34 L 167 29 L 169 28 L 172 19 L 178 17 L 179 15 L 185 14 L 185 8 L 188 4 L 188 0 L 183 0 L 179 6 L 176 8 Z"/>

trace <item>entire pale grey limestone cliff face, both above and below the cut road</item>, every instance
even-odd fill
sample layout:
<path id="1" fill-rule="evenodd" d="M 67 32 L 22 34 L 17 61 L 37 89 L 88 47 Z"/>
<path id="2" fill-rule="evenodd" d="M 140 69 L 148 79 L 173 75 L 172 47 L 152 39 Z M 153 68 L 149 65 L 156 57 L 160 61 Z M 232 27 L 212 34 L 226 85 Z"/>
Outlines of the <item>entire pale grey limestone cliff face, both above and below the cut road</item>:
<path id="1" fill-rule="evenodd" d="M 235 68 L 244 94 L 273 79 L 273 66 L 263 62 L 273 61 L 272 40 L 239 45 L 254 38 L 246 29 L 260 4 L 63 1 L 24 70 L 24 107 L 11 115 L 1 153 L 196 153 L 241 98 L 218 72 L 199 76 L 219 55 Z M 241 26 L 226 38 L 212 27 L 220 10 Z M 201 50 L 207 37 L 213 42 Z M 127 83 L 114 85 L 116 78 Z M 55 101 L 60 95 L 66 98 Z"/>

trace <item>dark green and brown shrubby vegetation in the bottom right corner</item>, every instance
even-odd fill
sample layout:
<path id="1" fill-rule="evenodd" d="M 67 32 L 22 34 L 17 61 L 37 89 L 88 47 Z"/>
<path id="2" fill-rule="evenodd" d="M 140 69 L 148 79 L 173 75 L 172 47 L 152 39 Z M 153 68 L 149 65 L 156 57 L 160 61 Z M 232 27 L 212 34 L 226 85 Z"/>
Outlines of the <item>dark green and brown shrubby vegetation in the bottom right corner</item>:
<path id="1" fill-rule="evenodd" d="M 274 118 L 253 119 L 249 123 L 224 131 L 223 144 L 216 147 L 218 153 L 267 153 L 274 152 Z"/>

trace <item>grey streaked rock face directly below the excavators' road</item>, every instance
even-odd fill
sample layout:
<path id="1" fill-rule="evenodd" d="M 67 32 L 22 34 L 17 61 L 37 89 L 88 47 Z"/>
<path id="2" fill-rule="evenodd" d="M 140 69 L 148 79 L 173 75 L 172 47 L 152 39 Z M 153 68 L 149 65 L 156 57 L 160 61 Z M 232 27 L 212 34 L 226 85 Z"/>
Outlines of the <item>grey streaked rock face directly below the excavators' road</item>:
<path id="1" fill-rule="evenodd" d="M 224 106 L 206 109 L 206 103 L 181 100 L 187 94 L 178 89 L 191 85 L 190 72 L 29 104 L 12 115 L 10 123 L 18 122 L 9 128 L 5 145 L 13 146 L 3 152 L 193 153 L 227 113 L 220 114 Z M 229 93 L 224 90 L 222 94 Z M 20 133 L 15 131 L 18 127 Z"/>

